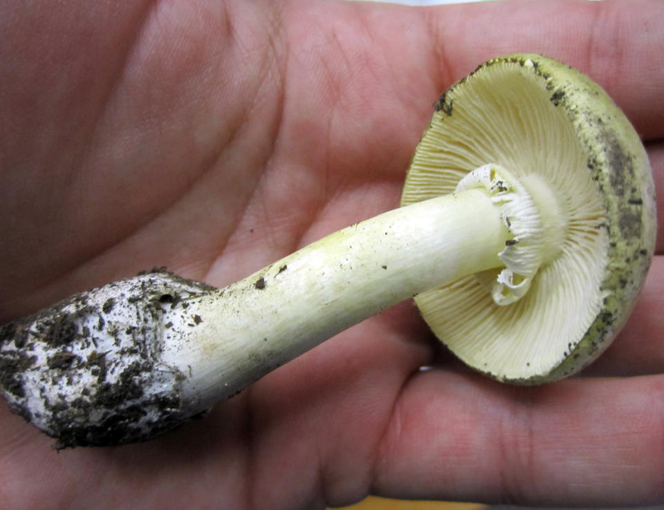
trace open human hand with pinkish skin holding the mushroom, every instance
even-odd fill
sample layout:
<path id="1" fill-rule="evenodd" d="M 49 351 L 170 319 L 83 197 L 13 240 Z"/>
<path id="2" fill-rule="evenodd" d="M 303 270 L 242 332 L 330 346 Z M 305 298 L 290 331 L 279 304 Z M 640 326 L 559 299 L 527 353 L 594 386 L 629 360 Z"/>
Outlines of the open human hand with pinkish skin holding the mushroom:
<path id="1" fill-rule="evenodd" d="M 0 320 L 155 265 L 224 285 L 396 207 L 434 100 L 498 54 L 596 79 L 662 196 L 658 19 L 657 0 L 3 1 Z M 631 320 L 581 377 L 484 379 L 405 303 L 154 442 L 57 453 L 0 406 L 0 507 L 664 502 L 658 238 Z"/>

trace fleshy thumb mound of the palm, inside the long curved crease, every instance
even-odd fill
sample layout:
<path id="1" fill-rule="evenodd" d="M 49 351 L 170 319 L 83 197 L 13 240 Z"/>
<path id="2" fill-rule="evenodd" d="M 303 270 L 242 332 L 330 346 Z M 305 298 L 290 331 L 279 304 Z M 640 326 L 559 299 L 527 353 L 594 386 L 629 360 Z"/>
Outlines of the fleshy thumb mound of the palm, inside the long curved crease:
<path id="1" fill-rule="evenodd" d="M 155 265 L 203 278 L 279 111 L 272 11 L 232 4 L 0 6 L 0 321 Z"/>

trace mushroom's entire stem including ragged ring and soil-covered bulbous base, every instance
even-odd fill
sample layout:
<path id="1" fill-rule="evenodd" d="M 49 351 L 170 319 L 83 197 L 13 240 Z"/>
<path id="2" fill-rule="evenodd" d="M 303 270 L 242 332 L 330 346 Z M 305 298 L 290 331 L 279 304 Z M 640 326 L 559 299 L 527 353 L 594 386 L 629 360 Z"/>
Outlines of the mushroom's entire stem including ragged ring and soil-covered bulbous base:
<path id="1" fill-rule="evenodd" d="M 420 292 L 495 274 L 495 301 L 516 301 L 542 263 L 546 224 L 522 184 L 487 164 L 456 193 L 342 229 L 228 287 L 150 272 L 6 325 L 0 386 L 61 446 L 147 440 Z"/>

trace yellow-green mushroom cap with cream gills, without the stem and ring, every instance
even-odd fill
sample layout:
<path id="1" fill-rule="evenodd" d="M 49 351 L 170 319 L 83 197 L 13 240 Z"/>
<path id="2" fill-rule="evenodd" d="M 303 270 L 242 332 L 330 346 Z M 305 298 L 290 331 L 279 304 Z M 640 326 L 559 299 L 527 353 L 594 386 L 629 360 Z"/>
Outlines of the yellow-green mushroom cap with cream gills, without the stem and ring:
<path id="1" fill-rule="evenodd" d="M 521 299 L 499 305 L 487 275 L 471 275 L 418 294 L 425 321 L 457 357 L 495 379 L 537 384 L 577 372 L 627 321 L 654 253 L 654 185 L 636 131 L 598 84 L 541 55 L 482 64 L 435 110 L 402 205 L 454 193 L 490 163 L 526 187 L 544 182 L 565 227 Z"/>

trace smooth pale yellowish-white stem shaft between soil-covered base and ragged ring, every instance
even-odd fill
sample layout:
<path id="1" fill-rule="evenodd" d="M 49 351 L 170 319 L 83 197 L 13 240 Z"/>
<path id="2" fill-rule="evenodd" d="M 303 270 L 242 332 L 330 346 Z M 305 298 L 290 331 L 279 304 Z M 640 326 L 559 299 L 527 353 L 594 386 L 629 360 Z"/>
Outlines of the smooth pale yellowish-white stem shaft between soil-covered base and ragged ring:
<path id="1" fill-rule="evenodd" d="M 481 189 L 389 211 L 165 317 L 164 361 L 191 375 L 198 405 L 212 404 L 395 303 L 501 267 L 508 238 Z"/>

